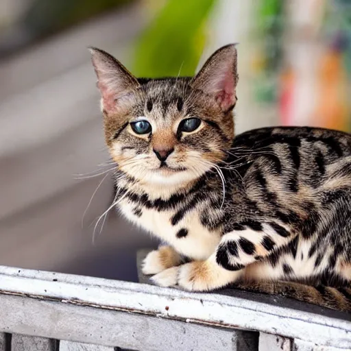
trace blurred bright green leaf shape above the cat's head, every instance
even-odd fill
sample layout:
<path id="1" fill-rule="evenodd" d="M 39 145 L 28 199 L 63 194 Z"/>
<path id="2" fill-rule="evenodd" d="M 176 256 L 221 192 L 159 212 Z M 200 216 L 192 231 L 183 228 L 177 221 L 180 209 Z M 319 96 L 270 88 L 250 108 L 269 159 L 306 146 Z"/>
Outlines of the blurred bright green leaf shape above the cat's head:
<path id="1" fill-rule="evenodd" d="M 193 75 L 204 49 L 204 24 L 214 3 L 167 1 L 138 40 L 133 73 L 139 77 Z"/>

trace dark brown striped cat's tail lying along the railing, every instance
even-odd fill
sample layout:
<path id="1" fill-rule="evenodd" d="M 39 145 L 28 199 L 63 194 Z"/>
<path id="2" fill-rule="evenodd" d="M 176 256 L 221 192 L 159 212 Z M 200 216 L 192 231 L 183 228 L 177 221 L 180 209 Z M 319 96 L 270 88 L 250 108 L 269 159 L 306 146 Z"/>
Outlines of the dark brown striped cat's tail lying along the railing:
<path id="1" fill-rule="evenodd" d="M 262 281 L 239 283 L 235 285 L 235 288 L 254 293 L 280 295 L 337 311 L 351 312 L 351 287 L 334 288 L 322 285 L 312 287 L 298 282 Z"/>

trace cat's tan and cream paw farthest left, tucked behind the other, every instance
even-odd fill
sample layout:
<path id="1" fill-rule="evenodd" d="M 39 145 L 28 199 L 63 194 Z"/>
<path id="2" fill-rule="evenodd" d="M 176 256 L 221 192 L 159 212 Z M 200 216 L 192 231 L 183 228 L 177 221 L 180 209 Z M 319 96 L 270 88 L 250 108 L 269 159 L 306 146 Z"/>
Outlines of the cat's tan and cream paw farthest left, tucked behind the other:
<path id="1" fill-rule="evenodd" d="M 141 271 L 146 275 L 158 274 L 167 268 L 179 265 L 181 260 L 180 254 L 172 247 L 163 246 L 147 254 Z"/>

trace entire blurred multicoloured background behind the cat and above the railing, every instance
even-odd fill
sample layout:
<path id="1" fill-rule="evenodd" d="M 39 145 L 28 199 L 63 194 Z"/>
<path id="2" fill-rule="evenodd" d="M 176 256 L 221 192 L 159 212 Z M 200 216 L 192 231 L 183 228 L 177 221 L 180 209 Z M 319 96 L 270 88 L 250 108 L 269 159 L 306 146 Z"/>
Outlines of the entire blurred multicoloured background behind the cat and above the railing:
<path id="1" fill-rule="evenodd" d="M 351 130 L 351 1 L 0 0 L 0 265 L 136 280 L 156 241 L 114 211 L 93 240 L 113 195 L 86 47 L 157 77 L 232 42 L 237 132 Z"/>

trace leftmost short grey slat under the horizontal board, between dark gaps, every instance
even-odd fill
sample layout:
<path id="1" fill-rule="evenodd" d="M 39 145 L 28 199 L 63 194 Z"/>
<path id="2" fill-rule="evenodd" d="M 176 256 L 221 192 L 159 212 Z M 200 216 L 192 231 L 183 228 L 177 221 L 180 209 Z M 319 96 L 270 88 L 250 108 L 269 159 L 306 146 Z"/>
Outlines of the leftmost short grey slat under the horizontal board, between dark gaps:
<path id="1" fill-rule="evenodd" d="M 18 310 L 18 307 L 14 306 L 13 311 Z M 56 351 L 56 340 L 14 334 L 11 339 L 11 351 Z"/>

